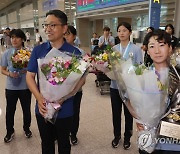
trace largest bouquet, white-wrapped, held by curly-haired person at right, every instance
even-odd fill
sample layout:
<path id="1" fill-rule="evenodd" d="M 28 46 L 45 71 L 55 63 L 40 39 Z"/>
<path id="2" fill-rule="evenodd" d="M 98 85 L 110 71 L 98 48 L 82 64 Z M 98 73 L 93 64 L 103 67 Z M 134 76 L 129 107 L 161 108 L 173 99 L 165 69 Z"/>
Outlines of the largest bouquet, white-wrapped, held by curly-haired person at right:
<path id="1" fill-rule="evenodd" d="M 156 146 L 159 122 L 168 106 L 168 68 L 157 72 L 144 65 L 133 65 L 131 59 L 112 63 L 118 87 L 123 87 L 130 100 L 125 101 L 128 110 L 144 126 L 138 134 L 138 146 L 151 153 Z"/>

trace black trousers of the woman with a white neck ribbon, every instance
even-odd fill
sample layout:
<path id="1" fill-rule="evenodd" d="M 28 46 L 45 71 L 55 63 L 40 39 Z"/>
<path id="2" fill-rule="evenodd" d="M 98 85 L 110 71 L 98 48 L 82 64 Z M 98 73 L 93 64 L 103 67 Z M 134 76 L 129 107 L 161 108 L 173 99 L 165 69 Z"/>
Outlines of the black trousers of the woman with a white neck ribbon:
<path id="1" fill-rule="evenodd" d="M 122 105 L 123 105 L 124 115 L 125 115 L 124 139 L 130 140 L 132 136 L 132 129 L 133 129 L 133 117 L 131 116 L 127 107 L 123 103 L 119 95 L 119 91 L 117 89 L 110 88 L 110 95 L 111 95 L 114 137 L 121 138 L 121 112 L 122 112 Z"/>

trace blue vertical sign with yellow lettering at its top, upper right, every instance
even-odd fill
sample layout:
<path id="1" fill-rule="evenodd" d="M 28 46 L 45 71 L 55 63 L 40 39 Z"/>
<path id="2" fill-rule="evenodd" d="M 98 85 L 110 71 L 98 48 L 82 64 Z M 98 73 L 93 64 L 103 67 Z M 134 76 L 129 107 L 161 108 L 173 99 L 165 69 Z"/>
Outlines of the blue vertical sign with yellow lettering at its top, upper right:
<path id="1" fill-rule="evenodd" d="M 158 29 L 160 26 L 161 0 L 150 0 L 149 3 L 149 25 Z"/>

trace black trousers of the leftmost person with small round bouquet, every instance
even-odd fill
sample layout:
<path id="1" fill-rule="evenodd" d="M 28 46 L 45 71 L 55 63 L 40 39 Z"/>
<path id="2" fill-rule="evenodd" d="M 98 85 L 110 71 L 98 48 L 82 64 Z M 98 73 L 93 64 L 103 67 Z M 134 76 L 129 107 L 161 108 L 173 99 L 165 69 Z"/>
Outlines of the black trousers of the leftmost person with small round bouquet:
<path id="1" fill-rule="evenodd" d="M 7 133 L 14 132 L 14 114 L 16 111 L 16 104 L 20 100 L 23 111 L 23 129 L 29 130 L 31 125 L 31 92 L 26 90 L 8 90 L 6 95 L 6 129 Z"/>

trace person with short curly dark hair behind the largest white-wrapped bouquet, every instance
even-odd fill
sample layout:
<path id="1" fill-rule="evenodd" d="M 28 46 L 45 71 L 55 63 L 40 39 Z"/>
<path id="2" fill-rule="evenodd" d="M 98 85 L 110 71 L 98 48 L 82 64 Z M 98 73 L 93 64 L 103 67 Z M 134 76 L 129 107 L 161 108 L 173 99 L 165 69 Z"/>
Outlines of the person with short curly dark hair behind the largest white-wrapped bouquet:
<path id="1" fill-rule="evenodd" d="M 172 52 L 171 37 L 165 31 L 156 30 L 147 34 L 147 49 L 148 54 L 153 60 L 156 71 L 162 68 L 169 67 L 170 54 Z M 137 123 L 138 130 L 144 130 L 142 124 Z M 158 146 L 157 146 L 158 147 Z M 172 148 L 170 148 L 172 147 Z M 179 145 L 168 146 L 166 143 L 160 146 L 161 150 L 155 150 L 153 154 L 178 154 Z M 139 150 L 140 154 L 147 154 L 147 152 Z"/>

